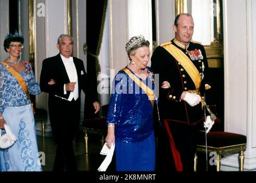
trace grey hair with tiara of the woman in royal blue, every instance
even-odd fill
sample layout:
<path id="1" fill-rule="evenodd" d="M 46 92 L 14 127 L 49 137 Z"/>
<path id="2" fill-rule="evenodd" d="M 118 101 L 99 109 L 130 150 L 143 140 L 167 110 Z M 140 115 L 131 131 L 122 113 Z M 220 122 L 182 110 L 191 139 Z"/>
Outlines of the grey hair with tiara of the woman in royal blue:
<path id="1" fill-rule="evenodd" d="M 139 47 L 142 47 L 142 46 L 149 47 L 149 45 L 150 45 L 149 41 L 146 40 L 143 37 L 143 35 L 134 36 L 134 37 L 130 38 L 130 40 L 126 43 L 126 46 L 125 46 L 129 60 L 131 60 L 130 53 L 132 51 L 137 50 Z"/>

